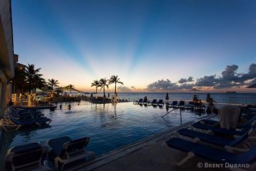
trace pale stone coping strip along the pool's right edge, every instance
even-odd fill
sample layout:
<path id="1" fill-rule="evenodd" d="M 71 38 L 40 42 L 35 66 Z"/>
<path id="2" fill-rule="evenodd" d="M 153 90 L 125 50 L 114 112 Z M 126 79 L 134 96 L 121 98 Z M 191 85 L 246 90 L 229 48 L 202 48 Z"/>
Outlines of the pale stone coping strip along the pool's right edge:
<path id="1" fill-rule="evenodd" d="M 75 166 L 74 168 L 72 168 L 72 170 L 73 169 L 74 170 L 93 170 L 95 168 L 99 168 L 100 166 L 103 166 L 113 160 L 120 158 L 120 157 L 124 157 L 125 155 L 128 155 L 129 153 L 138 151 L 139 149 L 141 149 L 147 145 L 151 145 L 153 143 L 156 143 L 157 141 L 161 141 L 161 139 L 164 139 L 166 136 L 172 135 L 174 133 L 174 131 L 179 130 L 180 128 L 183 128 L 185 126 L 188 126 L 190 124 L 193 124 L 193 123 L 198 122 L 199 120 L 202 120 L 205 118 L 211 118 L 213 116 L 215 116 L 215 115 L 209 114 L 209 115 L 201 116 L 200 118 L 191 120 L 190 122 L 186 122 L 185 124 L 181 124 L 180 126 L 175 126 L 174 128 L 170 128 L 170 129 L 166 130 L 165 132 L 161 132 L 159 134 L 147 137 L 145 139 L 141 139 L 141 140 L 131 143 L 129 145 L 120 147 L 118 149 L 110 151 L 109 153 L 100 155 L 99 157 L 97 157 L 93 160 L 90 160 L 88 162 L 84 162 L 83 164 Z"/>

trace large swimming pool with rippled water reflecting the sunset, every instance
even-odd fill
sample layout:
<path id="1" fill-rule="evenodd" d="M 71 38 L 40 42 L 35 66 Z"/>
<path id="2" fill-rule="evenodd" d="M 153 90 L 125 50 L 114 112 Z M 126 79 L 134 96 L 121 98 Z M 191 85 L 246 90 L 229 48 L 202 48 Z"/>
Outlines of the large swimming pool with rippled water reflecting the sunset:
<path id="1" fill-rule="evenodd" d="M 52 120 L 48 128 L 3 132 L 1 157 L 5 156 L 9 147 L 34 141 L 44 144 L 48 139 L 66 135 L 72 139 L 91 137 L 87 150 L 94 151 L 99 156 L 200 117 L 183 110 L 180 120 L 180 111 L 174 110 L 162 118 L 166 113 L 165 107 L 161 109 L 132 103 L 96 105 L 82 101 L 80 105 L 70 103 L 71 110 L 68 110 L 68 104 L 63 104 L 63 109 L 51 112 L 49 109 L 42 110 Z"/>

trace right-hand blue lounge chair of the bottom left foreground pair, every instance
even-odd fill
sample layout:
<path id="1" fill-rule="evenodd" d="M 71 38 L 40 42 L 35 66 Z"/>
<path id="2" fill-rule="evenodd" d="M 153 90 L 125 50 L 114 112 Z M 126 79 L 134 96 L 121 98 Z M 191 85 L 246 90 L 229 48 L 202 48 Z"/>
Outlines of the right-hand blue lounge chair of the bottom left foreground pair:
<path id="1" fill-rule="evenodd" d="M 51 159 L 55 160 L 57 170 L 65 170 L 86 160 L 94 159 L 95 154 L 85 151 L 90 137 L 71 140 L 70 137 L 49 139 L 47 145 L 51 147 Z"/>

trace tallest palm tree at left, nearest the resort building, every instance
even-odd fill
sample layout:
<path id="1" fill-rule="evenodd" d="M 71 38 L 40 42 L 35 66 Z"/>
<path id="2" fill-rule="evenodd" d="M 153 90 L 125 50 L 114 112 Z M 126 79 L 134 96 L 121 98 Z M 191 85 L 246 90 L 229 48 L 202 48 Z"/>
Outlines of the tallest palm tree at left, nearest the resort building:
<path id="1" fill-rule="evenodd" d="M 26 82 L 28 82 L 29 93 L 31 93 L 31 89 L 33 88 L 32 85 L 34 85 L 35 82 L 34 78 L 40 70 L 41 68 L 35 69 L 34 64 L 28 64 L 28 66 L 25 68 Z"/>

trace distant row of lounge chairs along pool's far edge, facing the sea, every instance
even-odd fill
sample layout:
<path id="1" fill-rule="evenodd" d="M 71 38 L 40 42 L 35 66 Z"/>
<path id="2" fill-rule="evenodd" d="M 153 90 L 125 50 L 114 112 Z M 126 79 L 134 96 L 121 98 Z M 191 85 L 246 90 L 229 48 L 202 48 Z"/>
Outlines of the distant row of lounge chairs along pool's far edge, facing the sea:
<path id="1" fill-rule="evenodd" d="M 163 107 L 164 105 L 166 107 L 170 108 L 182 108 L 182 109 L 192 109 L 192 110 L 197 110 L 197 109 L 205 109 L 205 105 L 201 103 L 193 103 L 193 101 L 188 102 L 187 104 L 185 101 L 172 101 L 172 103 L 166 102 L 164 104 L 163 99 L 160 99 L 157 101 L 157 99 L 153 99 L 153 101 L 147 101 L 147 99 L 140 99 L 139 101 L 134 101 L 134 104 L 139 104 L 139 105 L 155 105 L 155 106 L 161 106 Z"/>

